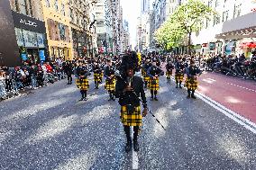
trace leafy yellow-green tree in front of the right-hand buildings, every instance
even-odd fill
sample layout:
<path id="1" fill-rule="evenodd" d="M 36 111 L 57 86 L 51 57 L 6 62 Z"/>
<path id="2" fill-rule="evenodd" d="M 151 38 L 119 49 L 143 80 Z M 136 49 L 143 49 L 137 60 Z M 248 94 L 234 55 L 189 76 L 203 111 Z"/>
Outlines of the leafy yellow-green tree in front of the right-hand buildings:
<path id="1" fill-rule="evenodd" d="M 187 36 L 188 54 L 191 53 L 192 32 L 200 31 L 206 19 L 215 15 L 215 11 L 200 0 L 188 0 L 178 6 L 160 29 L 155 32 L 155 38 L 166 48 L 178 47 Z"/>

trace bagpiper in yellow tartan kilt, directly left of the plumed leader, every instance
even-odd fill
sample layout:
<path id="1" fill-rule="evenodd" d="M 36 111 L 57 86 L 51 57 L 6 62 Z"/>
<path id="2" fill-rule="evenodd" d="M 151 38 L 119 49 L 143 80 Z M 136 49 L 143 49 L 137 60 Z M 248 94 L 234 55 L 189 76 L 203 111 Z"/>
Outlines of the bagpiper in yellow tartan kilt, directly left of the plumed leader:
<path id="1" fill-rule="evenodd" d="M 107 60 L 107 66 L 104 69 L 104 76 L 105 76 L 105 90 L 108 91 L 109 94 L 109 100 L 115 100 L 114 99 L 114 89 L 115 89 L 115 78 L 114 78 L 114 67 L 112 66 L 112 60 Z"/>

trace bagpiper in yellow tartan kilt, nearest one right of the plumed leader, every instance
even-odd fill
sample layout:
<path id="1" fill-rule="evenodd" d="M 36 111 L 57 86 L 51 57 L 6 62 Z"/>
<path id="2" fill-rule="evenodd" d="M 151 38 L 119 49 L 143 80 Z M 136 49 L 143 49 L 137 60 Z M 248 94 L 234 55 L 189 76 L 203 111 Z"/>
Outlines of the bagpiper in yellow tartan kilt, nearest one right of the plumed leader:
<path id="1" fill-rule="evenodd" d="M 163 76 L 164 72 L 160 67 L 156 66 L 156 60 L 152 60 L 152 66 L 148 69 L 147 75 L 151 77 L 150 79 L 150 89 L 151 89 L 151 101 L 158 101 L 157 94 L 160 89 L 159 76 Z"/>

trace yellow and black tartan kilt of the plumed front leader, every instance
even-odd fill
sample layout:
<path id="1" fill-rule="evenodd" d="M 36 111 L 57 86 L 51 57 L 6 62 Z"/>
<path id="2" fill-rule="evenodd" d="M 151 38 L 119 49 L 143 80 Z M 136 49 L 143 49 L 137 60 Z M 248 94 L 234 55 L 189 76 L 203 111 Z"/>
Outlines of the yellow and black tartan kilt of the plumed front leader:
<path id="1" fill-rule="evenodd" d="M 121 121 L 125 126 L 142 126 L 141 106 L 135 107 L 133 113 L 128 113 L 126 106 L 121 106 Z"/>

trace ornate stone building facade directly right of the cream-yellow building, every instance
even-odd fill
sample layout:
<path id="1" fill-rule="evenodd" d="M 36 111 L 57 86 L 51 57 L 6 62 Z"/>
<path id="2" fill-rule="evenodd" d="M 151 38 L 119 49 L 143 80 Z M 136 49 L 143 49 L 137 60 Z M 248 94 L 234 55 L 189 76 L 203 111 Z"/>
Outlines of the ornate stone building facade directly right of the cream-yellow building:
<path id="1" fill-rule="evenodd" d="M 96 1 L 70 0 L 69 17 L 72 32 L 73 56 L 92 57 L 96 53 Z"/>

